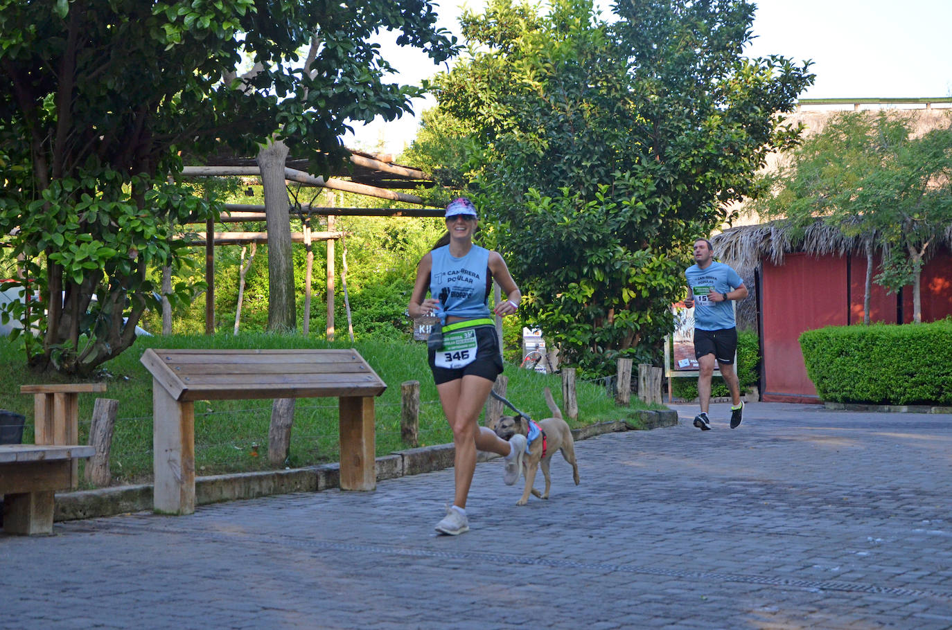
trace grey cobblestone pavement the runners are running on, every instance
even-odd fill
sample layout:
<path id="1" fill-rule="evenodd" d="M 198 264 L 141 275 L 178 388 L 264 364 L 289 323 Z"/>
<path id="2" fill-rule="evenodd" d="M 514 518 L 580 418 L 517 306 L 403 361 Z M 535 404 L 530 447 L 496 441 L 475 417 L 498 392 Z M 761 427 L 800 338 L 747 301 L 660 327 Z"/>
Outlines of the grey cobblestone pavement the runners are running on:
<path id="1" fill-rule="evenodd" d="M 480 463 L 456 538 L 452 470 L 0 536 L 0 627 L 952 627 L 952 415 L 674 408 L 547 502 Z"/>

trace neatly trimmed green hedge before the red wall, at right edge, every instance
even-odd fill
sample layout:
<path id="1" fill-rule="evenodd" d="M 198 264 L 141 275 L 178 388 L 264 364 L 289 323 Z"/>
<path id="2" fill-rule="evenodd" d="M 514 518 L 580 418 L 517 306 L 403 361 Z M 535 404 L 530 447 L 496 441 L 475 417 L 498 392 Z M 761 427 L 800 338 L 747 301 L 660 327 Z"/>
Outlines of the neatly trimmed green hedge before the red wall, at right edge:
<path id="1" fill-rule="evenodd" d="M 827 326 L 804 332 L 800 346 L 824 401 L 952 404 L 952 319 Z"/>

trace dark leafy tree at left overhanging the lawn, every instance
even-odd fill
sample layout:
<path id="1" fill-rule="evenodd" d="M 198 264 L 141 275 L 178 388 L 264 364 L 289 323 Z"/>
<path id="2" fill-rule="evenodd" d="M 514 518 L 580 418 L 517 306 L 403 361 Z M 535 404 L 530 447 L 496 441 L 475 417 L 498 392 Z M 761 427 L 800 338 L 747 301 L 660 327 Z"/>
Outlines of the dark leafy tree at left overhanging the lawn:
<path id="1" fill-rule="evenodd" d="M 420 93 L 387 83 L 371 36 L 438 62 L 455 48 L 435 22 L 426 0 L 0 0 L 0 234 L 47 305 L 30 364 L 88 374 L 131 344 L 157 297 L 147 268 L 216 211 L 167 181 L 183 154 L 253 154 L 277 132 L 327 174 L 348 120 Z"/>

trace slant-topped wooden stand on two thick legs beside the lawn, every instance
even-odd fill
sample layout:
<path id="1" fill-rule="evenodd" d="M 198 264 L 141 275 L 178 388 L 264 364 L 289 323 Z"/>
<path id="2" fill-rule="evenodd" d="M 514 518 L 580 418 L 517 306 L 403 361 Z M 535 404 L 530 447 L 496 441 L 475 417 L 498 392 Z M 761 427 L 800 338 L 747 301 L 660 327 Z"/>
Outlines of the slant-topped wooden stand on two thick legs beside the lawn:
<path id="1" fill-rule="evenodd" d="M 162 350 L 142 363 L 152 375 L 153 508 L 195 511 L 194 402 L 336 397 L 342 490 L 373 490 L 373 399 L 387 389 L 356 350 Z"/>

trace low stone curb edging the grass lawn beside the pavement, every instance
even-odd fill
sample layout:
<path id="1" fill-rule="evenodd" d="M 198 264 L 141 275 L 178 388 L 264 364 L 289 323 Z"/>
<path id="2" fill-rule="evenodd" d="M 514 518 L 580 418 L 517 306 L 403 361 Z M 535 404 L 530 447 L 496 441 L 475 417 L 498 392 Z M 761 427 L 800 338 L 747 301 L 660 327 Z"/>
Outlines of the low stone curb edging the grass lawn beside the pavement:
<path id="1" fill-rule="evenodd" d="M 575 440 L 586 440 L 605 433 L 649 430 L 674 426 L 677 423 L 678 412 L 672 409 L 660 411 L 640 409 L 633 410 L 625 421 L 595 423 L 572 429 L 572 437 Z M 453 465 L 453 454 L 454 448 L 451 443 L 394 451 L 376 459 L 377 481 L 450 468 Z M 498 457 L 493 453 L 480 452 L 477 462 L 488 462 Z M 255 499 L 292 492 L 320 492 L 339 487 L 340 479 L 339 463 L 196 477 L 195 505 Z M 62 492 L 56 494 L 53 521 L 94 519 L 151 509 L 151 483 Z"/>

